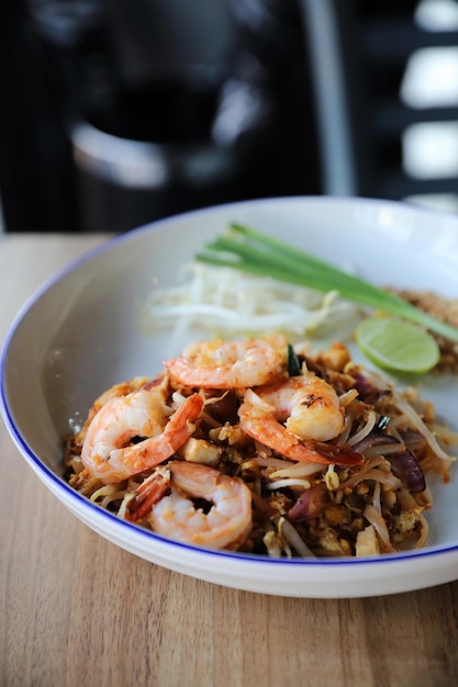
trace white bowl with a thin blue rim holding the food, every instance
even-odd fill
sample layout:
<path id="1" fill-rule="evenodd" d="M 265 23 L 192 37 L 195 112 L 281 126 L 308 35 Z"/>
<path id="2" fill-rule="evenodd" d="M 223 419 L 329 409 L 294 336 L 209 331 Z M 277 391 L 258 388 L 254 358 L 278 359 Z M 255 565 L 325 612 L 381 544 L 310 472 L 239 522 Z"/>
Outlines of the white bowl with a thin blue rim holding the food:
<path id="1" fill-rule="evenodd" d="M 379 284 L 458 297 L 458 219 L 379 201 L 283 199 L 237 203 L 157 222 L 108 241 L 45 284 L 13 323 L 2 352 L 1 405 L 19 450 L 78 518 L 119 547 L 165 567 L 252 592 L 362 597 L 458 578 L 457 474 L 435 481 L 429 545 L 378 559 L 267 560 L 209 552 L 119 520 L 60 477 L 62 441 L 93 398 L 115 382 L 154 374 L 167 336 L 142 330 L 138 307 L 155 283 L 236 221 L 358 272 Z M 457 426 L 456 379 L 425 376 L 421 392 Z"/>

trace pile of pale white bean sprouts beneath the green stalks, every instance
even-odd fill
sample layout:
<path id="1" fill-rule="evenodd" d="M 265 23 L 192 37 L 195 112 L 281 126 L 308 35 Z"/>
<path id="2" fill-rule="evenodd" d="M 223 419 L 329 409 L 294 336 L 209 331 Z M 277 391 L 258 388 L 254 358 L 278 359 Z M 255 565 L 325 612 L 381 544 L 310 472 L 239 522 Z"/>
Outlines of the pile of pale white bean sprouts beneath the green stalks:
<path id="1" fill-rule="evenodd" d="M 178 281 L 152 291 L 143 322 L 152 329 L 172 329 L 171 340 L 179 346 L 193 327 L 220 338 L 281 330 L 294 339 L 329 322 L 342 330 L 358 317 L 357 307 L 336 291 L 323 294 L 230 268 L 194 262 L 183 268 Z"/>

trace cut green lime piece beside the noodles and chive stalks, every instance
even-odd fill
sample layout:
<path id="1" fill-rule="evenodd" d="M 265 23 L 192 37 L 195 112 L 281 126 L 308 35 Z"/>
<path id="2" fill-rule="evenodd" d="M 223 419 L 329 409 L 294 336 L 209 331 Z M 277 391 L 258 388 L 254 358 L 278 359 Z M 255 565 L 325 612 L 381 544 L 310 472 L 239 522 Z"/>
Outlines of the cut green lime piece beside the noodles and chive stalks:
<path id="1" fill-rule="evenodd" d="M 440 358 L 436 340 L 421 327 L 393 317 L 369 317 L 355 331 L 360 350 L 377 367 L 421 374 Z"/>

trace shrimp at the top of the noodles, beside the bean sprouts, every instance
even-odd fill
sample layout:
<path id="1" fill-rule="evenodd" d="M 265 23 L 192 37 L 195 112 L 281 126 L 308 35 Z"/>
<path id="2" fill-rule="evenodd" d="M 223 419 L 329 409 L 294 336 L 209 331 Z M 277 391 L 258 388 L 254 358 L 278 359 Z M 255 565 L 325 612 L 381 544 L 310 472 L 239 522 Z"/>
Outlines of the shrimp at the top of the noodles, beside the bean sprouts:
<path id="1" fill-rule="evenodd" d="M 272 382 L 284 372 L 287 340 L 282 335 L 247 341 L 189 345 L 182 356 L 166 360 L 170 376 L 187 386 L 247 388 Z"/>

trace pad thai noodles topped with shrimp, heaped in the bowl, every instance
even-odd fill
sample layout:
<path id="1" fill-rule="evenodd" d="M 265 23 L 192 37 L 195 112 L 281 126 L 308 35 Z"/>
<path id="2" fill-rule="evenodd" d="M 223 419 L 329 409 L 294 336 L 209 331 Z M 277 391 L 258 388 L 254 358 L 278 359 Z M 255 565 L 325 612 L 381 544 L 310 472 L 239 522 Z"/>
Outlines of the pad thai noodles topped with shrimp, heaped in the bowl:
<path id="1" fill-rule="evenodd" d="M 458 435 L 335 342 L 200 341 L 105 391 L 65 447 L 69 484 L 210 549 L 366 556 L 425 545 L 426 476 Z"/>

